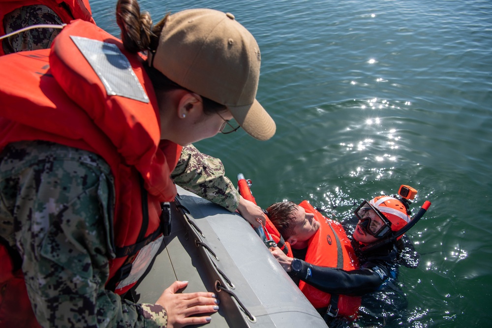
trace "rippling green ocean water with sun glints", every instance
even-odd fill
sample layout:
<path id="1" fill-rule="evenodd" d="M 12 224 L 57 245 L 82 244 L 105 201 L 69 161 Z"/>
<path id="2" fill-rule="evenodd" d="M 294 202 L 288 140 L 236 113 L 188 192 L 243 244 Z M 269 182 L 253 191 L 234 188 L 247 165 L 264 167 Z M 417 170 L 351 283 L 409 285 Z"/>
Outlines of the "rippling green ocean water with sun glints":
<path id="1" fill-rule="evenodd" d="M 114 3 L 91 1 L 118 35 Z M 345 220 L 363 199 L 418 189 L 427 215 L 408 232 L 399 325 L 490 327 L 492 319 L 492 1 L 141 0 L 164 13 L 208 7 L 256 37 L 257 99 L 277 123 L 196 146 L 253 181 L 262 207 L 309 200 Z M 381 323 L 383 324 L 383 323 Z"/>

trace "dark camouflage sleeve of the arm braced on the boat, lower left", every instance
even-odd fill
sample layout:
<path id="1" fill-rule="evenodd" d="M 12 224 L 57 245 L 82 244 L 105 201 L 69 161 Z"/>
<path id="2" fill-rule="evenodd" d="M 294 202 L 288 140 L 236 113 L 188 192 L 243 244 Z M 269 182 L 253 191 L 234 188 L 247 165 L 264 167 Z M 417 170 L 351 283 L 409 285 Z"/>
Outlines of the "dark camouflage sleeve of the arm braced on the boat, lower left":
<path id="1" fill-rule="evenodd" d="M 0 234 L 23 257 L 41 326 L 166 327 L 162 306 L 135 304 L 105 289 L 114 256 L 106 162 L 41 142 L 8 146 L 0 160 Z"/>

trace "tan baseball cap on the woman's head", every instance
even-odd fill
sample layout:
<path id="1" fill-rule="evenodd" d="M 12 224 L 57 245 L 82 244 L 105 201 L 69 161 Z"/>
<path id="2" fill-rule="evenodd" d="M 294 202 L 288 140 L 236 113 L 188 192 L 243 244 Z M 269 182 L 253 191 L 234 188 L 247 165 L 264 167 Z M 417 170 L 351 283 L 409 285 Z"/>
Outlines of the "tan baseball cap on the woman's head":
<path id="1" fill-rule="evenodd" d="M 234 15 L 189 9 L 168 17 L 153 65 L 180 86 L 227 106 L 234 119 L 258 140 L 276 130 L 256 100 L 260 48 Z"/>

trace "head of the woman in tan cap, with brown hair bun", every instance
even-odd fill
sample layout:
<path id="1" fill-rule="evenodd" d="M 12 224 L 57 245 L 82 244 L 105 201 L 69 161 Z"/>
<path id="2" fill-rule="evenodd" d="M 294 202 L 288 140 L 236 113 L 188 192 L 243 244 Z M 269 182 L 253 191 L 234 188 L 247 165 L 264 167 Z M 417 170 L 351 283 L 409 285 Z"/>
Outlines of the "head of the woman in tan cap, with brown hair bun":
<path id="1" fill-rule="evenodd" d="M 255 99 L 258 44 L 234 15 L 190 9 L 153 26 L 136 1 L 119 1 L 117 21 L 125 48 L 149 53 L 162 139 L 187 145 L 227 132 L 233 118 L 258 140 L 275 134 L 275 122 Z"/>

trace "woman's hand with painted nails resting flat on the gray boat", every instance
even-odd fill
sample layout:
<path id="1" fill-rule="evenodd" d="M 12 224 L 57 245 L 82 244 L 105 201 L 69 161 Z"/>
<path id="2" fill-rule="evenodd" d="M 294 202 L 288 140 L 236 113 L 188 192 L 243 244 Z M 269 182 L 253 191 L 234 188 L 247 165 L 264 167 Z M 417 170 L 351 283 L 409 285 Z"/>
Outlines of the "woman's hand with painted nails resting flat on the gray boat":
<path id="1" fill-rule="evenodd" d="M 219 300 L 214 293 L 178 293 L 186 288 L 187 281 L 175 281 L 166 288 L 155 304 L 161 305 L 167 312 L 167 328 L 181 328 L 188 325 L 203 325 L 210 322 L 210 316 L 196 314 L 218 311 Z"/>

